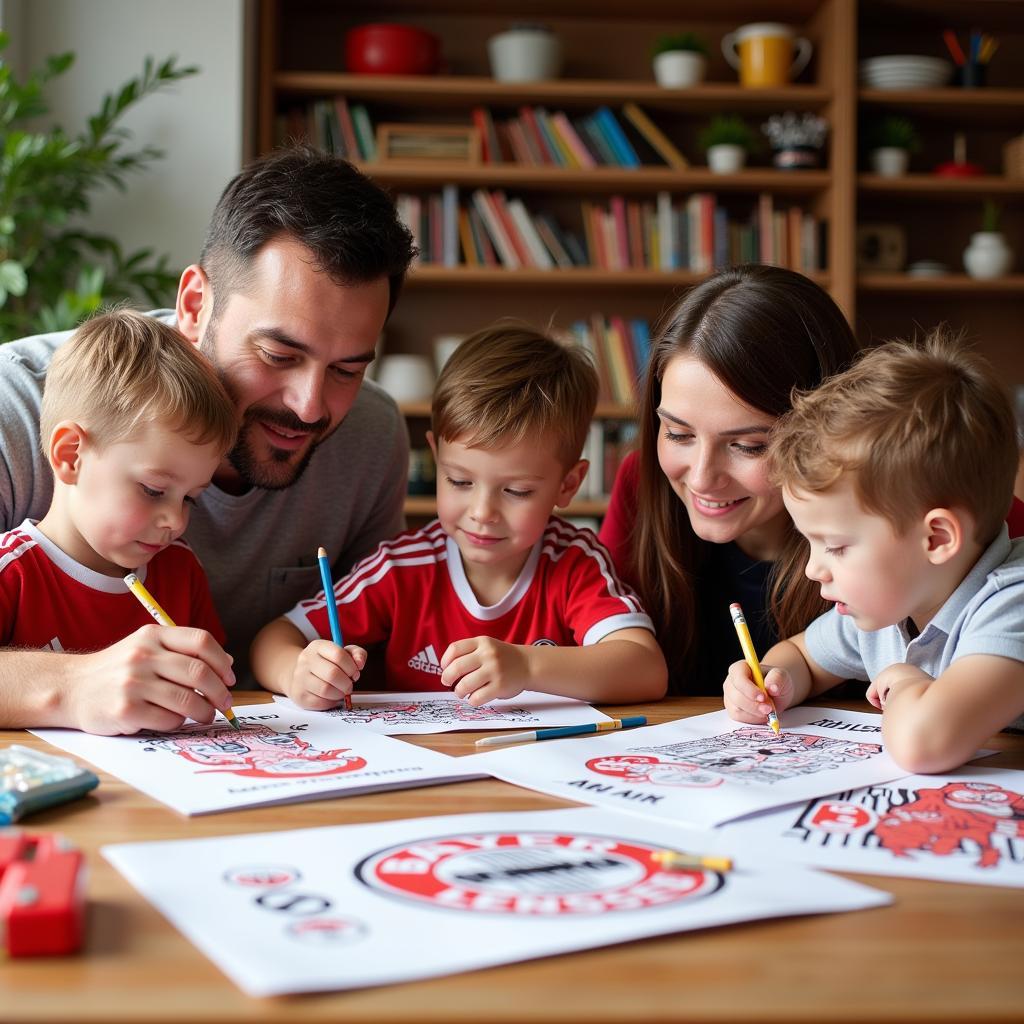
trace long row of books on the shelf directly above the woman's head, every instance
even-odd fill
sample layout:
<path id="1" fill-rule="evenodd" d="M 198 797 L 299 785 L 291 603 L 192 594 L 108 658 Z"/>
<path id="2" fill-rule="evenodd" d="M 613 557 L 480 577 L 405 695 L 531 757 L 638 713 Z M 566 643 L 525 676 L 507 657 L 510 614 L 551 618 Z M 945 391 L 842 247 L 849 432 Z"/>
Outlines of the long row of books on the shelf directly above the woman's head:
<path id="1" fill-rule="evenodd" d="M 534 212 L 503 189 L 475 188 L 461 202 L 458 186 L 439 194 L 397 198 L 420 261 L 440 266 L 506 269 L 653 269 L 709 272 L 736 263 L 771 263 L 808 273 L 824 268 L 826 222 L 799 206 L 776 210 L 758 197 L 736 217 L 711 193 L 655 201 L 609 198 L 607 206 L 580 204 L 581 230 L 547 211 Z"/>

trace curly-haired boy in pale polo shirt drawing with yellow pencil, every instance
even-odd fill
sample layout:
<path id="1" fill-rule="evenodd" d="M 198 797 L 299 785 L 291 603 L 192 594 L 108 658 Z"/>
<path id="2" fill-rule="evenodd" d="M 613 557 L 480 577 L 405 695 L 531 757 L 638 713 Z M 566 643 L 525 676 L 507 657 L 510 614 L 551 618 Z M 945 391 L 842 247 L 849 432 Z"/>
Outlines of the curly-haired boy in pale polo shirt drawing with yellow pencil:
<path id="1" fill-rule="evenodd" d="M 1024 541 L 1004 522 L 1018 455 L 1009 397 L 941 332 L 874 349 L 797 398 L 772 470 L 810 545 L 807 575 L 836 607 L 765 654 L 779 712 L 869 680 L 908 772 L 957 767 L 1024 712 Z M 725 705 L 766 718 L 742 662 Z"/>

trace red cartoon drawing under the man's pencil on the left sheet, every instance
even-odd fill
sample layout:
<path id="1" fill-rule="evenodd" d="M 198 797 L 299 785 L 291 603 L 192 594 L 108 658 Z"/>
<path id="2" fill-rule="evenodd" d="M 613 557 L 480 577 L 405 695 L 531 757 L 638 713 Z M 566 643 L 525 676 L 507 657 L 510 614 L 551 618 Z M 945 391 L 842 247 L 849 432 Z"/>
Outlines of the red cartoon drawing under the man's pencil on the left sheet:
<path id="1" fill-rule="evenodd" d="M 165 750 L 198 765 L 206 772 L 231 772 L 246 778 L 300 778 L 309 775 L 340 775 L 366 768 L 367 762 L 347 748 L 314 750 L 291 732 L 275 732 L 266 725 L 176 733 L 146 740 L 147 750 Z M 205 774 L 200 772 L 198 774 Z"/>

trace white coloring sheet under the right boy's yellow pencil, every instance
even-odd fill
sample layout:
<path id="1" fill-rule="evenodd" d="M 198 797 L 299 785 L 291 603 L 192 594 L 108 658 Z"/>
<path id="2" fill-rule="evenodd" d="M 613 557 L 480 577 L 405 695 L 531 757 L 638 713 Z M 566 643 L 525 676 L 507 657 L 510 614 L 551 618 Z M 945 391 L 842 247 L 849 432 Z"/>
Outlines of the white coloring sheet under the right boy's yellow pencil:
<path id="1" fill-rule="evenodd" d="M 595 807 L 708 827 L 905 775 L 882 750 L 882 716 L 794 708 L 782 732 L 724 711 L 463 758 L 496 778 Z"/>

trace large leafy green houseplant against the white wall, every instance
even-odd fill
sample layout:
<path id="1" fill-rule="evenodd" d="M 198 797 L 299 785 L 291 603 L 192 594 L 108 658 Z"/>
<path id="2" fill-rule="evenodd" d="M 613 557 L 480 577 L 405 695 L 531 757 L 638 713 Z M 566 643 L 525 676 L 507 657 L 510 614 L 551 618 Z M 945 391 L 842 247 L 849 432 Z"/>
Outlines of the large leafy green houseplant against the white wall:
<path id="1" fill-rule="evenodd" d="M 0 33 L 0 51 L 8 37 Z M 121 126 L 129 108 L 197 73 L 170 57 L 146 57 L 142 74 L 103 97 L 77 133 L 38 127 L 49 108 L 47 82 L 74 62 L 73 53 L 47 58 L 24 81 L 0 63 L 0 342 L 40 331 L 73 328 L 102 303 L 143 298 L 166 302 L 175 274 L 151 249 L 124 253 L 105 234 L 76 225 L 90 197 L 105 185 L 124 189 L 127 176 L 163 154 L 127 147 Z"/>

